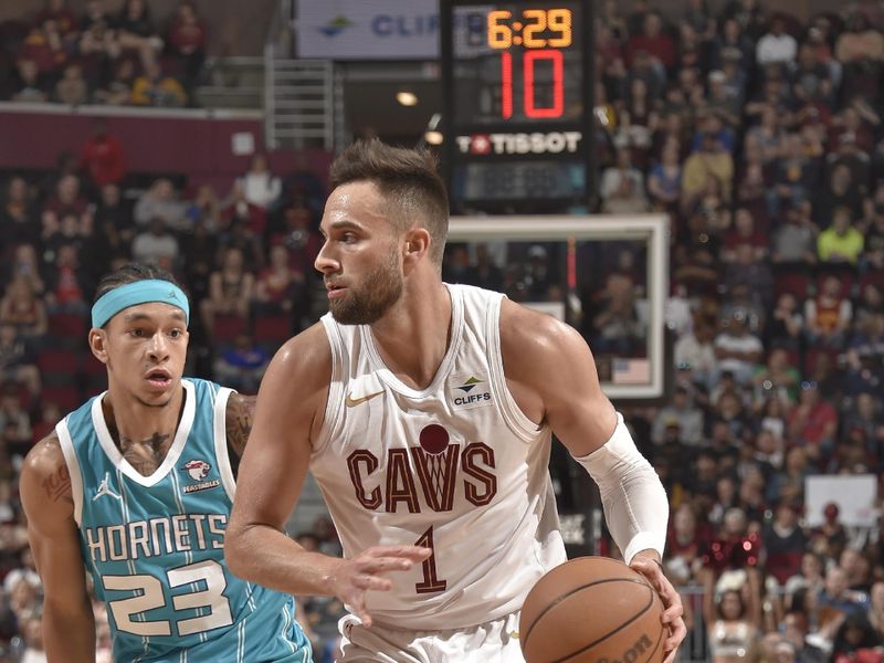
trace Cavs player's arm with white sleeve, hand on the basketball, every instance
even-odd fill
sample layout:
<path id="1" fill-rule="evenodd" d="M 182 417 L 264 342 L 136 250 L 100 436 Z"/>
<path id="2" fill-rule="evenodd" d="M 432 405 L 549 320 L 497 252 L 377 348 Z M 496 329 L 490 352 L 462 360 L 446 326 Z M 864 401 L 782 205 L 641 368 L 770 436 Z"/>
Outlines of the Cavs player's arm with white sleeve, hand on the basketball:
<path id="1" fill-rule="evenodd" d="M 670 628 L 665 663 L 687 633 L 678 592 L 662 571 L 669 499 L 599 385 L 592 352 L 572 327 L 504 301 L 501 346 L 507 385 L 525 413 L 546 421 L 599 485 L 623 558 L 657 590 Z"/>

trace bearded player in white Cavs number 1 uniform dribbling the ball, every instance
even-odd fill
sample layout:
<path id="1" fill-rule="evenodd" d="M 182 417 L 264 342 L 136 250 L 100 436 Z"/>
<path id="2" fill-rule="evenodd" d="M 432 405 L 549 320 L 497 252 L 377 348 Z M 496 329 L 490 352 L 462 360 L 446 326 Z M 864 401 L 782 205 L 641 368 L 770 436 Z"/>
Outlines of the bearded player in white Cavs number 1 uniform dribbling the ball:
<path id="1" fill-rule="evenodd" d="M 358 143 L 332 167 L 316 259 L 330 313 L 283 346 L 259 392 L 225 554 L 234 573 L 337 596 L 338 661 L 522 661 L 518 611 L 565 547 L 551 434 L 598 482 L 625 560 L 665 606 L 665 492 L 571 327 L 441 280 L 448 199 L 425 154 Z M 307 470 L 344 558 L 283 527 Z M 592 619 L 591 614 L 587 615 Z"/>

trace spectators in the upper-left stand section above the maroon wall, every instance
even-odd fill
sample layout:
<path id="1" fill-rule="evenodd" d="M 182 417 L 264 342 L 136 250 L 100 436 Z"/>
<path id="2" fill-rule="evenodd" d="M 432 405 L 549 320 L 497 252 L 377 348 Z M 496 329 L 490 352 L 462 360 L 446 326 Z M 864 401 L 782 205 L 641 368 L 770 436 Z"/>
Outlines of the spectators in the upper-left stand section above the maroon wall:
<path id="1" fill-rule="evenodd" d="M 33 17 L 0 22 L 0 101 L 69 106 L 194 104 L 206 25 L 181 0 L 155 18 L 149 0 L 46 0 Z"/>

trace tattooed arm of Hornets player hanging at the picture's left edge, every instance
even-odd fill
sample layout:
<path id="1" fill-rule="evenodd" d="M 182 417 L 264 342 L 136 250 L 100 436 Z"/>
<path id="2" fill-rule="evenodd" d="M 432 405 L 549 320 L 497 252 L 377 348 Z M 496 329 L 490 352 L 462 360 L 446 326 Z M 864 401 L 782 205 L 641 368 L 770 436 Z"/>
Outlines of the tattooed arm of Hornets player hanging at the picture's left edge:
<path id="1" fill-rule="evenodd" d="M 94 663 L 95 618 L 74 520 L 71 475 L 55 433 L 28 453 L 19 485 L 28 538 L 43 581 L 43 642 L 50 663 Z"/>

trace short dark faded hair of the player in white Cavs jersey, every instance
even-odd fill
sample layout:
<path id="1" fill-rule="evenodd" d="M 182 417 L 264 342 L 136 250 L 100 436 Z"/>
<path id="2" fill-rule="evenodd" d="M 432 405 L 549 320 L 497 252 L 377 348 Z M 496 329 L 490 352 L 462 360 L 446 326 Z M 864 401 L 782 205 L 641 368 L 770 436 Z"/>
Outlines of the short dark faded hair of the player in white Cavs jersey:
<path id="1" fill-rule="evenodd" d="M 411 228 L 415 217 L 429 231 L 434 246 L 430 257 L 442 264 L 449 232 L 449 197 L 429 150 L 392 147 L 380 140 L 357 140 L 333 164 L 332 188 L 349 182 L 372 182 L 386 199 L 385 210 L 400 230 Z"/>

